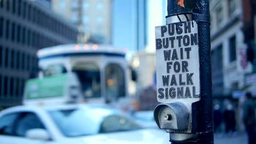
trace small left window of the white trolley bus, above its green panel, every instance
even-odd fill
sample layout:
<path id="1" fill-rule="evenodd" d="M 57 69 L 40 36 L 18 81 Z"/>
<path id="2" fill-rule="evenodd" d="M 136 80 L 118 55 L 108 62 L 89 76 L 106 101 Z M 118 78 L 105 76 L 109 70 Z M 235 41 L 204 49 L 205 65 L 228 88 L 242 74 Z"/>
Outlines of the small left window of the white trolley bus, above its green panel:
<path id="1" fill-rule="evenodd" d="M 43 70 L 44 76 L 53 76 L 58 74 L 67 73 L 67 69 L 62 64 L 49 65 Z"/>

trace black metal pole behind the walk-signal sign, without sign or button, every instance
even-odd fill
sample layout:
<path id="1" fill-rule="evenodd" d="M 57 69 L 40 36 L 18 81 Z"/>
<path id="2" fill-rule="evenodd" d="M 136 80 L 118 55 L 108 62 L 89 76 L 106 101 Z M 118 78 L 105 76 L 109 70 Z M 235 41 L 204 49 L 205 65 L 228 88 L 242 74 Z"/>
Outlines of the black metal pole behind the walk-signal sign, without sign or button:
<path id="1" fill-rule="evenodd" d="M 193 128 L 197 142 L 175 143 L 213 143 L 213 113 L 212 113 L 212 75 L 211 75 L 211 39 L 210 39 L 210 10 L 208 0 L 184 0 L 184 7 L 178 1 L 167 0 L 168 16 L 192 13 L 193 20 L 198 22 L 199 57 L 200 57 L 200 86 L 201 99 L 193 105 L 193 119 L 197 123 Z"/>

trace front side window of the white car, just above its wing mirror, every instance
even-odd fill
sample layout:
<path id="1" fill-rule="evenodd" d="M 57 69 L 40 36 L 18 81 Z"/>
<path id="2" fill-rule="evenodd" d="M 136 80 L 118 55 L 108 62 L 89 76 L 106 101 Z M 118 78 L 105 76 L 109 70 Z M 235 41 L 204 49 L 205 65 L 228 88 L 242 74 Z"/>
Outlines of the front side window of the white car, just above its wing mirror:
<path id="1" fill-rule="evenodd" d="M 19 121 L 16 123 L 16 128 L 14 130 L 17 136 L 26 136 L 26 132 L 30 129 L 45 129 L 43 123 L 40 119 L 31 112 L 21 113 Z"/>

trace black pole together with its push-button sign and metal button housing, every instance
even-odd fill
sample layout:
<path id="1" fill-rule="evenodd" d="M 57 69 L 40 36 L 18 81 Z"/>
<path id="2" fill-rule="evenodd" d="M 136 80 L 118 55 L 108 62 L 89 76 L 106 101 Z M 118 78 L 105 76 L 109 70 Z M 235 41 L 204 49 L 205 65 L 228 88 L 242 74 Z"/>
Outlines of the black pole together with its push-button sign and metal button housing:
<path id="1" fill-rule="evenodd" d="M 167 11 L 155 28 L 155 121 L 173 143 L 213 143 L 209 2 L 168 0 Z"/>

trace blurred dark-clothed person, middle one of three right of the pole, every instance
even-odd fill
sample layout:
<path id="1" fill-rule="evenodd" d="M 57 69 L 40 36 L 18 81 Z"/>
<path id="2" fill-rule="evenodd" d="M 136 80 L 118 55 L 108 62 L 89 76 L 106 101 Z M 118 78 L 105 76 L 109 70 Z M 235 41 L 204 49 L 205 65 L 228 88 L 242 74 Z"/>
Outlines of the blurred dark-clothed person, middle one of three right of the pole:
<path id="1" fill-rule="evenodd" d="M 226 106 L 226 110 L 224 111 L 223 116 L 225 122 L 225 132 L 229 133 L 229 131 L 231 131 L 232 133 L 234 133 L 236 131 L 236 116 L 235 111 L 233 110 L 233 106 L 231 104 L 228 104 L 228 106 Z"/>

